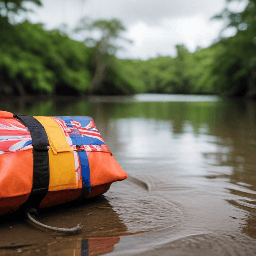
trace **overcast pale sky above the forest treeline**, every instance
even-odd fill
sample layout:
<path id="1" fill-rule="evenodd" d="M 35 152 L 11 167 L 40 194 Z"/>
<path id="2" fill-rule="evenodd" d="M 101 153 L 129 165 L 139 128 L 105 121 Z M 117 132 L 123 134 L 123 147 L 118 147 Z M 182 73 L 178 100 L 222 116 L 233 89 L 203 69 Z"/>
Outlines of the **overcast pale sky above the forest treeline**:
<path id="1" fill-rule="evenodd" d="M 246 1 L 246 0 L 245 0 Z M 230 8 L 239 11 L 245 1 L 235 1 Z M 119 58 L 149 59 L 176 55 L 175 45 L 184 44 L 190 52 L 208 47 L 218 37 L 223 21 L 211 20 L 226 7 L 225 0 L 41 0 L 43 7 L 27 3 L 34 10 L 25 18 L 43 23 L 46 29 L 67 24 L 71 31 L 79 20 L 119 19 L 126 31 L 122 36 L 132 43 L 120 42 L 124 50 Z M 232 35 L 227 31 L 226 35 Z M 75 40 L 81 35 L 70 34 Z"/>

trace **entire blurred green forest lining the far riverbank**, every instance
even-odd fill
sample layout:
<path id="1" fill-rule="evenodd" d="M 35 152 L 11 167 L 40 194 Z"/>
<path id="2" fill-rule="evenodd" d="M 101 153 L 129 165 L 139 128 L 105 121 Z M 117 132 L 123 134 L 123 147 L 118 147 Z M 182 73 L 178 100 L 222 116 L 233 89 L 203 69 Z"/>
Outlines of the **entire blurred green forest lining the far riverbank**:
<path id="1" fill-rule="evenodd" d="M 39 0 L 30 0 L 41 5 Z M 228 0 L 232 1 L 232 0 Z M 24 0 L 0 0 L 0 95 L 129 95 L 134 93 L 220 94 L 256 97 L 256 0 L 241 13 L 224 9 L 235 36 L 220 37 L 190 53 L 177 45 L 176 57 L 147 61 L 117 59 L 113 39 L 124 31 L 119 20 L 82 20 L 76 31 L 100 29 L 84 42 L 42 24 L 15 23 Z M 90 47 L 86 45 L 92 45 Z"/>

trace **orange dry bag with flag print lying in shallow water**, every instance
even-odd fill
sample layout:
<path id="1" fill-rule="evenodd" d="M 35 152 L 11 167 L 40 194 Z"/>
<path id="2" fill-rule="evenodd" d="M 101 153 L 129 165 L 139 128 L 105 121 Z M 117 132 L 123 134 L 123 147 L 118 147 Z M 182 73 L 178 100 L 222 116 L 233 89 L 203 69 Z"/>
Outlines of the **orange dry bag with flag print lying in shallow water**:
<path id="1" fill-rule="evenodd" d="M 0 214 L 97 196 L 125 178 L 92 118 L 0 111 Z"/>

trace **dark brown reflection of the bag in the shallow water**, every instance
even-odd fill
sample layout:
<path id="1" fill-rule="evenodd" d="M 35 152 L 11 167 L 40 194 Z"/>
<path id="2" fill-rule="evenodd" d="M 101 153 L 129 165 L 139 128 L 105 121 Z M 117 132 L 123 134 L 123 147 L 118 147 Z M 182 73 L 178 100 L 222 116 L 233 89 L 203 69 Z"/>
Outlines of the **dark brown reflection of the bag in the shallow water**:
<path id="1" fill-rule="evenodd" d="M 109 198 L 111 200 L 111 198 Z M 85 202 L 70 202 L 40 211 L 39 219 L 52 226 L 83 225 L 79 235 L 44 232 L 29 226 L 20 212 L 0 220 L 0 255 L 99 255 L 110 252 L 127 227 L 108 199 L 98 197 Z M 21 253 L 22 252 L 22 253 Z"/>

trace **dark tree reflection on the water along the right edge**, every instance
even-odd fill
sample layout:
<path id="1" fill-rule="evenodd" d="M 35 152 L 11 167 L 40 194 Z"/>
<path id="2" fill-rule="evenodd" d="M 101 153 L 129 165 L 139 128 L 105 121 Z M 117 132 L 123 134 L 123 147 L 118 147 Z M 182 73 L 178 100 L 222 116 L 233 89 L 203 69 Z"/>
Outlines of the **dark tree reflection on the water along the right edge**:
<path id="1" fill-rule="evenodd" d="M 246 223 L 242 232 L 256 238 L 256 119 L 255 102 L 236 102 L 228 104 L 211 133 L 217 137 L 214 142 L 216 152 L 204 153 L 208 164 L 230 166 L 229 175 L 216 173 L 207 178 L 226 178 L 230 183 L 226 189 L 234 199 L 227 201 L 244 210 Z"/>

